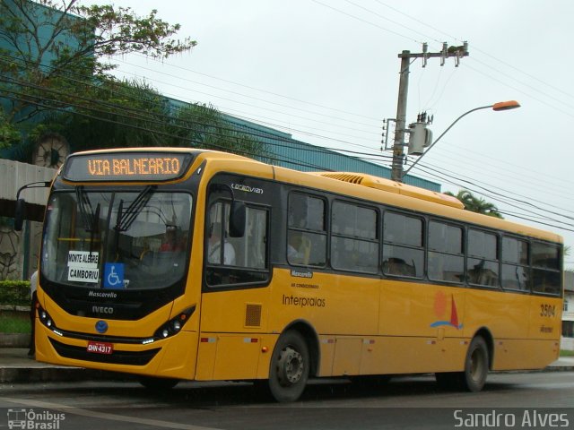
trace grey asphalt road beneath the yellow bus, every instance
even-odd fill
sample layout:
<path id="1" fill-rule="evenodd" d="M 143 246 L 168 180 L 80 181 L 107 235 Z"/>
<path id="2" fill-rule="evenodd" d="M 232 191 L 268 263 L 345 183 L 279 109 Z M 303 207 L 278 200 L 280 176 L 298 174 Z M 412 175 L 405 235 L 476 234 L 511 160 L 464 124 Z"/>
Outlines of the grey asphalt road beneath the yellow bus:
<path id="1" fill-rule="evenodd" d="M 138 383 L 0 385 L 0 428 L 396 429 L 574 428 L 574 373 L 490 374 L 479 393 L 439 391 L 431 375 L 381 387 L 313 383 L 277 404 L 247 383 L 181 383 L 166 392 Z M 16 427 L 14 427 L 16 428 Z"/>

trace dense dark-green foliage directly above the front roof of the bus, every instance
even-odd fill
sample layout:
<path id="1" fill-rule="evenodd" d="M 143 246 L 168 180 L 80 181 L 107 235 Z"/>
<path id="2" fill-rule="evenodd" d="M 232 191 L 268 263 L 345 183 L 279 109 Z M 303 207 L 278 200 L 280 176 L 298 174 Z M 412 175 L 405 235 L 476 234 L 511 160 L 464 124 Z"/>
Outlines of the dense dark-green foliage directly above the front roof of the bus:
<path id="1" fill-rule="evenodd" d="M 212 106 L 166 99 L 146 82 L 103 80 L 73 110 L 53 111 L 30 133 L 59 133 L 74 150 L 184 146 L 264 157 L 262 142 L 240 133 Z"/>

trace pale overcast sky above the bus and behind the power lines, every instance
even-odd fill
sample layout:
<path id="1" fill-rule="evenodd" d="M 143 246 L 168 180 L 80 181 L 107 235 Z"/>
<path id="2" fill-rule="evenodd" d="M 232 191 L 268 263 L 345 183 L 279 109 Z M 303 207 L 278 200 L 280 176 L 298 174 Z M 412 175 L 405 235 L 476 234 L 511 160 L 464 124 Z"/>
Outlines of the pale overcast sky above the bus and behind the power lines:
<path id="1" fill-rule="evenodd" d="M 465 116 L 412 173 L 443 191 L 482 193 L 505 218 L 561 234 L 574 267 L 571 0 L 83 0 L 92 3 L 156 8 L 181 24 L 178 37 L 198 42 L 163 62 L 114 58 L 118 74 L 387 166 L 381 126 L 396 117 L 397 55 L 468 41 L 458 67 L 452 58 L 413 61 L 407 123 L 429 112 L 436 138 L 474 107 L 509 99 L 522 107 Z"/>

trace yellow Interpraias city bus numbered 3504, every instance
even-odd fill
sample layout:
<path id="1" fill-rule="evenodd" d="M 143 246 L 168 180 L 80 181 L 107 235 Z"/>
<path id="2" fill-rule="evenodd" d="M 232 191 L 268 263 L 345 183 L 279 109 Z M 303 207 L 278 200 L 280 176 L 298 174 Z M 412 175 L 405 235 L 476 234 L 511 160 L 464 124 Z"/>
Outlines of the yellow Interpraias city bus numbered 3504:
<path id="1" fill-rule="evenodd" d="M 68 157 L 48 198 L 36 357 L 144 385 L 489 371 L 558 358 L 561 236 L 442 193 L 229 153 Z"/>

